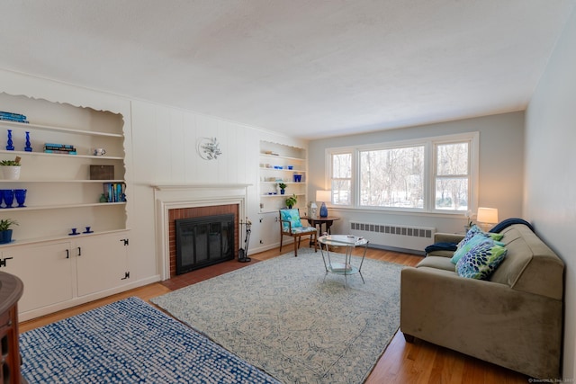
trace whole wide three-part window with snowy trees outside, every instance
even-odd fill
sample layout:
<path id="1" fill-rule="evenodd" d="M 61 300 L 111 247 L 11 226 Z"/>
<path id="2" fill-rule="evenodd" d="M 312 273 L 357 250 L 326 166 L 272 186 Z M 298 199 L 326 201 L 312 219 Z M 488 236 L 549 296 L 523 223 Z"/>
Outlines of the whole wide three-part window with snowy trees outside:
<path id="1" fill-rule="evenodd" d="M 473 210 L 478 133 L 327 151 L 332 203 L 375 210 Z"/>

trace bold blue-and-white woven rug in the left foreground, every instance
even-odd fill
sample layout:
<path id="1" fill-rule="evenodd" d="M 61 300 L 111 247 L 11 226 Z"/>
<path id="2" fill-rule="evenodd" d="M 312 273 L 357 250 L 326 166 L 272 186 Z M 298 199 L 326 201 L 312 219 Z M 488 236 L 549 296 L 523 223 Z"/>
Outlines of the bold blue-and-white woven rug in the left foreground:
<path id="1" fill-rule="evenodd" d="M 34 383 L 278 383 L 138 298 L 20 336 Z"/>

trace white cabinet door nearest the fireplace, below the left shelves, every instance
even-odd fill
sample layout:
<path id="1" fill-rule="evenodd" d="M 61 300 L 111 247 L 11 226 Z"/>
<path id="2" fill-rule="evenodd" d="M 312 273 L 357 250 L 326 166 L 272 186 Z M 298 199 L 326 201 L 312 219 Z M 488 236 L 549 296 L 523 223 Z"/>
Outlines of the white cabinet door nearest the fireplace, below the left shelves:
<path id="1" fill-rule="evenodd" d="M 108 290 L 130 281 L 126 233 L 77 238 L 78 296 Z"/>

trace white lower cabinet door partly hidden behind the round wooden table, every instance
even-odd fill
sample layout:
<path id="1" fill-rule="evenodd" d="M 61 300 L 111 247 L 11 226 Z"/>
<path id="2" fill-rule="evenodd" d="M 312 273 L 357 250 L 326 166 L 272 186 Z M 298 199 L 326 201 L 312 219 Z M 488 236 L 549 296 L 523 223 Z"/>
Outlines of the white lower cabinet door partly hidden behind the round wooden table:
<path id="1" fill-rule="evenodd" d="M 73 297 L 70 242 L 20 246 L 2 252 L 0 271 L 18 276 L 24 284 L 19 312 L 46 307 Z M 5 266 L 4 266 L 5 263 Z"/>

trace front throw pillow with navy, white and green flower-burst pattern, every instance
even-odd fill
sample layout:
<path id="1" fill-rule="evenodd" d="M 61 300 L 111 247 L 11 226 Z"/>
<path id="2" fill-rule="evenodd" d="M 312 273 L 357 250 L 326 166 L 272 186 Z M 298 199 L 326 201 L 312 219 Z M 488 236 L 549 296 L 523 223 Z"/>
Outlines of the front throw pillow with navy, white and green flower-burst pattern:
<path id="1" fill-rule="evenodd" d="M 502 263 L 508 250 L 493 241 L 485 241 L 466 253 L 456 263 L 459 276 L 469 279 L 488 280 L 492 272 Z"/>

